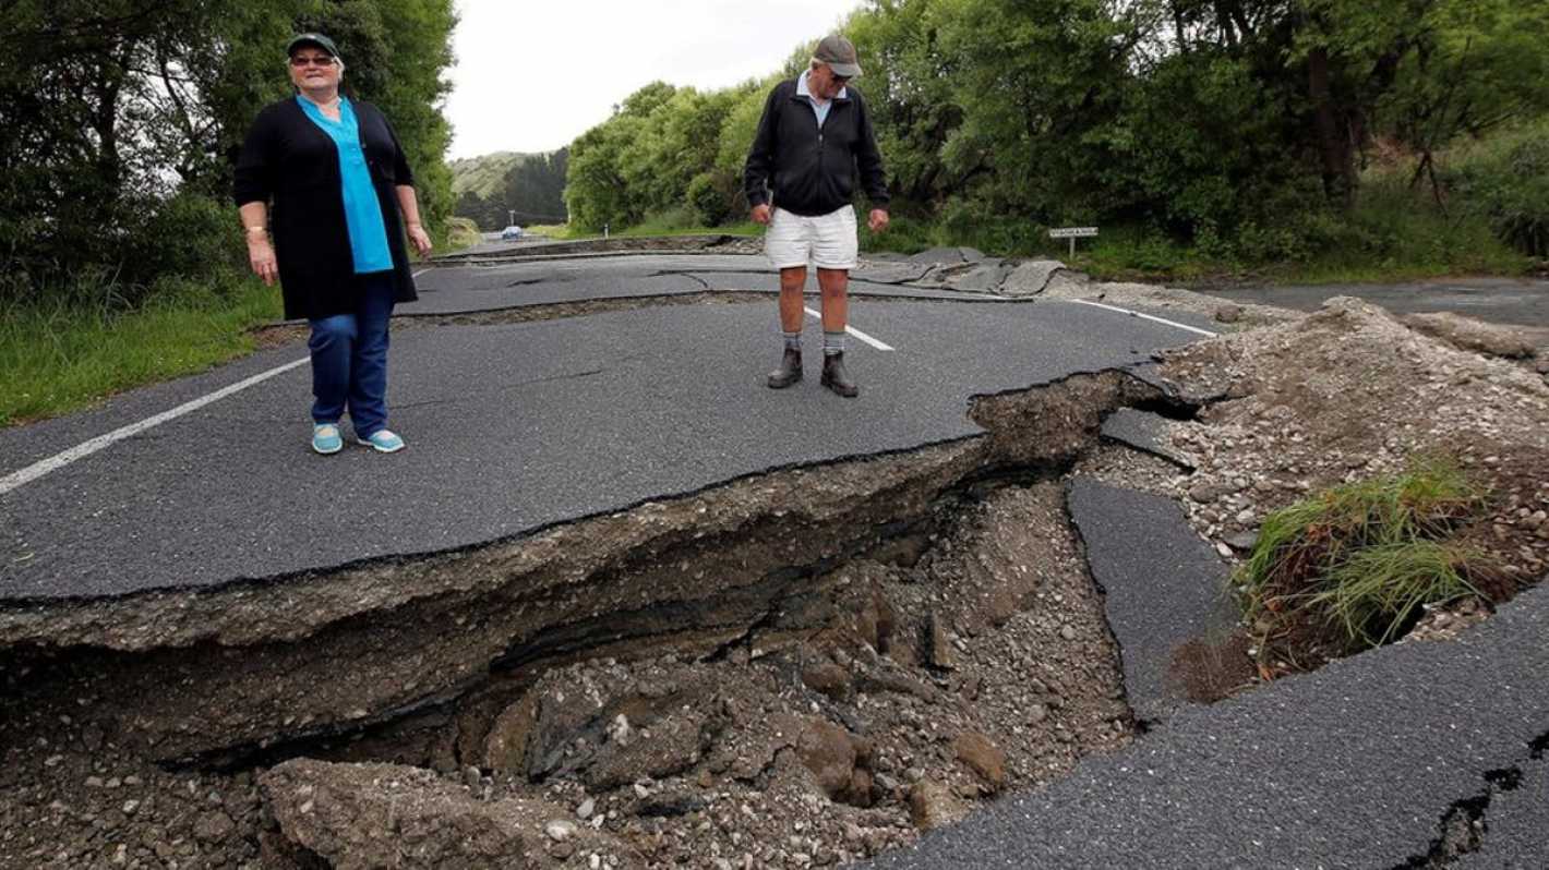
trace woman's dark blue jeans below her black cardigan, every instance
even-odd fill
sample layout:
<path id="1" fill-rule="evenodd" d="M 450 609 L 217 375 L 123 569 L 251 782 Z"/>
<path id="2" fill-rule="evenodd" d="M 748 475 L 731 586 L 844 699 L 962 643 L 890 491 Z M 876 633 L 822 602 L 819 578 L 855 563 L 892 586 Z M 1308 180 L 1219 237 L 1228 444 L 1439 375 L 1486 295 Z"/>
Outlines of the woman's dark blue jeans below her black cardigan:
<path id="1" fill-rule="evenodd" d="M 387 320 L 392 317 L 393 276 L 355 276 L 355 313 L 311 320 L 313 423 L 339 423 L 344 407 L 358 438 L 387 427 Z"/>

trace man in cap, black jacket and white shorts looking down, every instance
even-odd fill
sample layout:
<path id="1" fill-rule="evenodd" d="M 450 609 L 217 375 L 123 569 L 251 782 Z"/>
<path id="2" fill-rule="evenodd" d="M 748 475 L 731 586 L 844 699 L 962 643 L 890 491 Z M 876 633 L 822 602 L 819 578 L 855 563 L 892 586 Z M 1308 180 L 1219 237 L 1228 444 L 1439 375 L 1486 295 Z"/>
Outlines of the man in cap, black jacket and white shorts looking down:
<path id="1" fill-rule="evenodd" d="M 855 268 L 857 221 L 850 197 L 857 167 L 872 212 L 872 232 L 888 228 L 888 184 L 871 115 L 849 80 L 861 74 L 855 46 L 843 36 L 818 43 L 798 79 L 781 82 L 764 104 L 748 152 L 744 184 L 753 220 L 768 226 L 765 252 L 779 269 L 779 320 L 785 353 L 770 373 L 774 390 L 801 381 L 802 286 L 807 265 L 823 289 L 823 385 L 855 398 L 844 370 L 846 289 Z M 773 187 L 773 207 L 770 190 Z"/>

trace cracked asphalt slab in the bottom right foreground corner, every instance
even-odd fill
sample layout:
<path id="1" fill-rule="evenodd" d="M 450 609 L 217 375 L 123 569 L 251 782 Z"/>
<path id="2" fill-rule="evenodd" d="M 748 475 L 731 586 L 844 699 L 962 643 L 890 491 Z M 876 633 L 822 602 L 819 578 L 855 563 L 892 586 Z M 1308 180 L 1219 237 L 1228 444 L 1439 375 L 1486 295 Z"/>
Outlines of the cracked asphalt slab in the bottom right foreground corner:
<path id="1" fill-rule="evenodd" d="M 1487 794 L 1496 771 L 1535 768 L 1549 740 L 1546 636 L 1540 587 L 1456 641 L 1382 647 L 1182 707 L 1128 749 L 867 867 L 1422 867 L 1448 813 Z M 1513 824 L 1516 794 L 1503 802 L 1516 836 L 1501 848 L 1534 848 L 1544 837 Z M 1530 803 L 1524 824 L 1541 817 Z M 1543 865 L 1543 851 L 1526 855 Z"/>

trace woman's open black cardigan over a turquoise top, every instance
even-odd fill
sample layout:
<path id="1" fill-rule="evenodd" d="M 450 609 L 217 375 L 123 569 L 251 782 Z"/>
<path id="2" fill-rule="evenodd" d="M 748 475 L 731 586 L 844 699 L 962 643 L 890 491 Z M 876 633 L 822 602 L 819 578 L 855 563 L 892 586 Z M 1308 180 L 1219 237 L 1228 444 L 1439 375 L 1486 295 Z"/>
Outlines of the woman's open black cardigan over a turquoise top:
<path id="1" fill-rule="evenodd" d="M 352 101 L 361 147 L 387 228 L 393 299 L 412 302 L 414 277 L 398 215 L 400 184 L 414 184 L 409 161 L 383 113 Z M 237 206 L 273 203 L 274 257 L 280 268 L 285 319 L 319 319 L 355 311 L 355 254 L 344 220 L 339 149 L 294 98 L 263 107 L 237 158 Z"/>

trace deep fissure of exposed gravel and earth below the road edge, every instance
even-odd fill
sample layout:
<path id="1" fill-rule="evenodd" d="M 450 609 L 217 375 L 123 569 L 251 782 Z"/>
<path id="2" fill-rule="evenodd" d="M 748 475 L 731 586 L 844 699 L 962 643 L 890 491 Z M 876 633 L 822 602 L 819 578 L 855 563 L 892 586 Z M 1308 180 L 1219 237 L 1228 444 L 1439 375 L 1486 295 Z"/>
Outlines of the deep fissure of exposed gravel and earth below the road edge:
<path id="1" fill-rule="evenodd" d="M 906 844 L 1131 738 L 1060 481 L 1106 413 L 1159 402 L 1078 375 L 977 399 L 979 438 L 457 553 L 9 615 L 5 735 L 57 760 L 0 786 L 76 800 L 6 820 L 62 814 L 51 844 L 93 861 L 115 831 L 203 824 L 183 845 L 234 865 L 260 842 L 282 865 L 479 844 L 736 867 Z M 115 803 L 115 766 L 149 807 Z"/>

